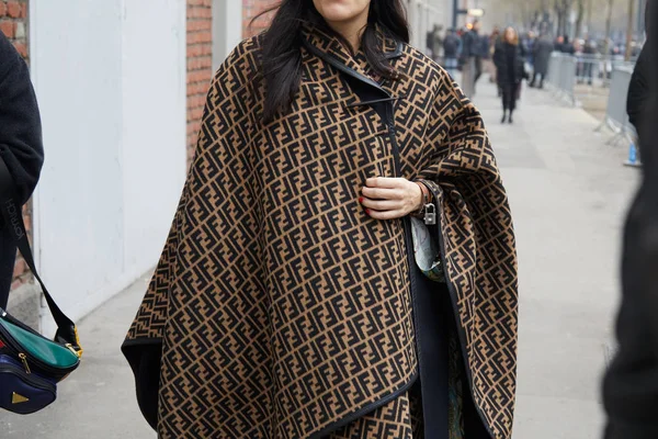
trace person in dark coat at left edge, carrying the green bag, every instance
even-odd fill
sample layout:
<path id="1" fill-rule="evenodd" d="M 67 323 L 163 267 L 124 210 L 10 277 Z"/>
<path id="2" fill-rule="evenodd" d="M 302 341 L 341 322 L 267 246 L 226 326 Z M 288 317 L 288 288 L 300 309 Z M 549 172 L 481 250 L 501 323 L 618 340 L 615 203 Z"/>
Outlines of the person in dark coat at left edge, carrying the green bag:
<path id="1" fill-rule="evenodd" d="M 27 202 L 44 162 L 38 105 L 27 65 L 0 32 L 0 160 L 9 169 L 19 202 Z M 4 188 L 1 188 L 4 189 Z M 0 307 L 5 308 L 16 246 L 0 215 Z"/>

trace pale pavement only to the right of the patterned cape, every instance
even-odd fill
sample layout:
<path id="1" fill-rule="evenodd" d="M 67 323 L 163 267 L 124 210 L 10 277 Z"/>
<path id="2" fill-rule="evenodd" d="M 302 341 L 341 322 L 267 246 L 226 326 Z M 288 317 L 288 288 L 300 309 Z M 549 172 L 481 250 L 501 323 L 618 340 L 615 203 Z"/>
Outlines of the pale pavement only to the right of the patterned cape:
<path id="1" fill-rule="evenodd" d="M 525 88 L 513 125 L 495 88 L 480 109 L 508 189 L 520 263 L 514 439 L 599 439 L 601 376 L 614 347 L 621 229 L 638 182 L 599 121 Z"/>

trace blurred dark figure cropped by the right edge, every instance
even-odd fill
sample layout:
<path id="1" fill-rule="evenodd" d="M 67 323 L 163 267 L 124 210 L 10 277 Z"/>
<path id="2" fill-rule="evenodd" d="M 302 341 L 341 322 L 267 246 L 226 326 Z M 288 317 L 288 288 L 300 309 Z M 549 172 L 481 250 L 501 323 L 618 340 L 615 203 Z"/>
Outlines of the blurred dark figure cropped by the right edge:
<path id="1" fill-rule="evenodd" d="M 619 350 L 603 382 L 605 439 L 658 438 L 658 7 L 647 2 L 645 44 L 627 110 L 639 134 L 642 183 L 624 228 Z"/>

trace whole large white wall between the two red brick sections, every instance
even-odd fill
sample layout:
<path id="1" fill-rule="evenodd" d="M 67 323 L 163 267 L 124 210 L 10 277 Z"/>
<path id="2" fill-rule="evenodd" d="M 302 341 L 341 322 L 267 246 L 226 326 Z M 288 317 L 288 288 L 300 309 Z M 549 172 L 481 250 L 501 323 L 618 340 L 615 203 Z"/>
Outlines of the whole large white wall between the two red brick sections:
<path id="1" fill-rule="evenodd" d="M 185 7 L 30 5 L 46 151 L 34 203 L 37 263 L 79 318 L 155 266 L 171 223 L 184 178 Z"/>

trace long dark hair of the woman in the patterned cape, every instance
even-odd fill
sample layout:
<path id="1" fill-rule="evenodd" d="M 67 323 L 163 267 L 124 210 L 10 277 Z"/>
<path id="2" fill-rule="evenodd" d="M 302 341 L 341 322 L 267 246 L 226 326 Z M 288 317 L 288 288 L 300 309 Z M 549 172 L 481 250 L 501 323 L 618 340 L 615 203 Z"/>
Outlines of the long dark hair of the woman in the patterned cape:
<path id="1" fill-rule="evenodd" d="M 338 37 L 345 47 L 351 45 L 332 31 L 311 0 L 283 0 L 277 5 L 258 14 L 251 24 L 262 15 L 276 11 L 270 27 L 262 36 L 261 70 L 265 81 L 265 104 L 263 122 L 271 122 L 277 112 L 290 110 L 293 97 L 299 89 L 302 77 L 302 27 L 310 23 L 325 33 Z M 375 25 L 389 36 L 409 43 L 409 24 L 401 0 L 371 0 L 368 24 L 365 27 L 361 47 L 368 64 L 383 78 L 395 77 L 389 61 L 378 46 Z"/>

